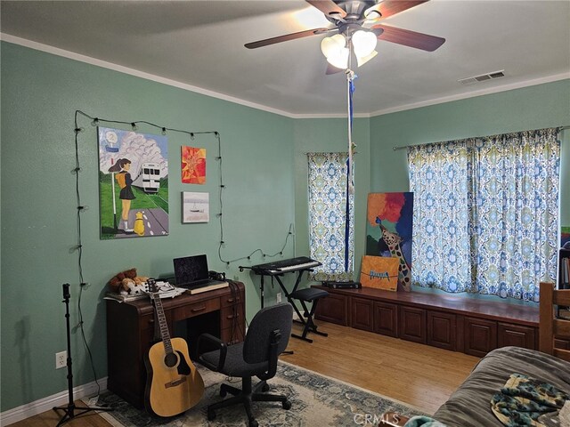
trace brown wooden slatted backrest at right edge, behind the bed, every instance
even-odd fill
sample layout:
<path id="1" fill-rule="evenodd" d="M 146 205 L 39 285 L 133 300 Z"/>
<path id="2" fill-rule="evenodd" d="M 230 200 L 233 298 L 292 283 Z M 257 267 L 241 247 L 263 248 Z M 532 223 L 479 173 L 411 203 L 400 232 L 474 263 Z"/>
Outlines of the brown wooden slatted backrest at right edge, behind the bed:
<path id="1" fill-rule="evenodd" d="M 570 289 L 556 290 L 553 283 L 541 283 L 539 350 L 570 361 L 570 350 L 554 345 L 555 337 L 570 340 L 570 319 L 557 318 L 556 306 L 570 307 Z"/>

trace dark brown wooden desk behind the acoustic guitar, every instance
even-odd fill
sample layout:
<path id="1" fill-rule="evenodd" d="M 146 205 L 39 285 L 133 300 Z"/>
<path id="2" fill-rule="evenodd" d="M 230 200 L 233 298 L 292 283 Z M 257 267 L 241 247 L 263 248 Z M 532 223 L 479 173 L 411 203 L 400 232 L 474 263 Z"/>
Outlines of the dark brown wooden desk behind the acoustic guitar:
<path id="1" fill-rule="evenodd" d="M 171 336 L 188 342 L 191 359 L 196 338 L 208 333 L 224 342 L 241 342 L 245 336 L 245 288 L 233 282 L 223 289 L 202 294 L 183 294 L 162 300 Z M 107 300 L 107 388 L 134 407 L 144 407 L 146 369 L 144 355 L 155 339 L 151 300 Z"/>

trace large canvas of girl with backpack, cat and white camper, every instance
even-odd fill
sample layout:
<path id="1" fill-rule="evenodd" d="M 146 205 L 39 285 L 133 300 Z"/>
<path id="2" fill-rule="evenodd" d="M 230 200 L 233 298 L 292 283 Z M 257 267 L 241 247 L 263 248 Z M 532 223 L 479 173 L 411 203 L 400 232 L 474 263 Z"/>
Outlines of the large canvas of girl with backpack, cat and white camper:
<path id="1" fill-rule="evenodd" d="M 168 235 L 167 137 L 98 127 L 101 238 Z"/>

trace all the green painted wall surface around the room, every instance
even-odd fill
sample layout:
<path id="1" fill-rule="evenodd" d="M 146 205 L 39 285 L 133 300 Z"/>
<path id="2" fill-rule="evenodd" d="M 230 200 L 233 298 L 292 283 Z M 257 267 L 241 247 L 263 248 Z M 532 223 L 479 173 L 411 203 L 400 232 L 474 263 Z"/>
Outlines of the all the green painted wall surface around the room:
<path id="1" fill-rule="evenodd" d="M 77 201 L 73 123 L 77 109 L 92 117 L 147 120 L 193 132 L 217 131 L 222 138 L 224 242 L 222 257 L 235 260 L 262 249 L 283 258 L 308 253 L 306 162 L 309 151 L 346 150 L 346 119 L 292 119 L 250 109 L 183 89 L 98 68 L 75 60 L 1 44 L 1 411 L 67 389 L 67 372 L 54 369 L 54 353 L 66 349 L 61 285 L 71 284 L 74 384 L 94 380 L 77 328 Z M 392 147 L 539 127 L 570 125 L 570 81 L 533 86 L 438 106 L 354 121 L 355 269 L 364 250 L 366 197 L 370 191 L 408 189 L 405 150 Z M 358 102 L 357 93 L 354 102 Z M 219 174 L 216 140 L 190 141 L 168 134 L 170 234 L 167 237 L 103 241 L 99 238 L 97 141 L 95 128 L 79 117 L 83 274 L 81 294 L 85 338 L 99 378 L 106 376 L 105 305 L 107 280 L 136 267 L 149 276 L 172 275 L 172 259 L 208 254 L 213 270 L 246 285 L 247 317 L 259 308 L 259 279 L 240 264 L 218 259 L 216 212 Z M 104 125 L 104 124 L 102 124 Z M 141 132 L 156 133 L 143 125 Z M 563 147 L 563 219 L 570 219 L 568 132 Z M 180 147 L 208 150 L 208 182 L 180 183 Z M 210 193 L 210 222 L 180 222 L 182 191 Z M 292 275 L 291 275 L 292 276 Z M 287 278 L 290 282 L 292 279 Z M 277 288 L 266 286 L 266 301 Z M 117 326 L 120 327 L 120 326 Z M 120 357 L 120 355 L 113 355 Z"/>

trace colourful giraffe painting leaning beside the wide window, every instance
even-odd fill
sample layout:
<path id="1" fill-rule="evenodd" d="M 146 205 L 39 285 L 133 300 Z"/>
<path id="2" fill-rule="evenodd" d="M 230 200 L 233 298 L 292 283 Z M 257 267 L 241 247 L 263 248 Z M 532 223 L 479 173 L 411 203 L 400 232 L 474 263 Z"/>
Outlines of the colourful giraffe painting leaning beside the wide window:
<path id="1" fill-rule="evenodd" d="M 399 260 L 398 283 L 411 289 L 413 193 L 370 193 L 366 222 L 366 254 Z"/>

